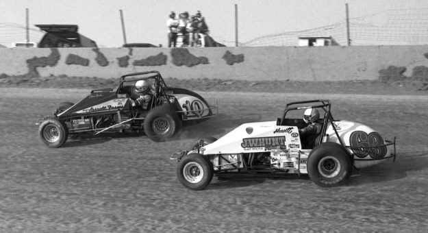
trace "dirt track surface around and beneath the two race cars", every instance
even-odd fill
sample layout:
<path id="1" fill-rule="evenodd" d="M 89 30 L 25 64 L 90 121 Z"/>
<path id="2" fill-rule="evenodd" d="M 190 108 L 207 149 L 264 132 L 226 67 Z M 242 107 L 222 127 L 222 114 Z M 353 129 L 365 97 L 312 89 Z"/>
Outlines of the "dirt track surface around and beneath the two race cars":
<path id="1" fill-rule="evenodd" d="M 219 116 L 178 138 L 105 134 L 49 149 L 34 125 L 88 90 L 0 88 L 0 232 L 425 232 L 427 95 L 199 92 Z M 285 103 L 331 99 L 336 119 L 397 137 L 396 162 L 353 171 L 347 186 L 306 177 L 239 175 L 189 191 L 172 153 L 195 138 L 276 119 Z"/>

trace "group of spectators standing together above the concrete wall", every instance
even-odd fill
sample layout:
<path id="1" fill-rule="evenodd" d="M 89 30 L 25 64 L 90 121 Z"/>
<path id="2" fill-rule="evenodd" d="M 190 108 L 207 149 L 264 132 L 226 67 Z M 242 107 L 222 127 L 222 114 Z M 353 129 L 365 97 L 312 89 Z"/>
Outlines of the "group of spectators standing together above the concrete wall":
<path id="1" fill-rule="evenodd" d="M 168 47 L 205 47 L 208 26 L 201 12 L 189 16 L 188 12 L 179 14 L 171 12 L 168 21 Z M 178 42 L 177 42 L 178 40 Z"/>

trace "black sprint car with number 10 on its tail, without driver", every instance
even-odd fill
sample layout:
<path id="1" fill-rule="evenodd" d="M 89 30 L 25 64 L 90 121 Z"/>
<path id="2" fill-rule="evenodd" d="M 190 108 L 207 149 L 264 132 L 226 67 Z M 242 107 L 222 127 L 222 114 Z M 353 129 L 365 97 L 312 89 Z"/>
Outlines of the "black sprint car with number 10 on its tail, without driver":
<path id="1" fill-rule="evenodd" d="M 132 104 L 138 97 L 135 83 L 146 80 L 153 88 L 148 106 Z M 48 147 L 61 147 L 69 134 L 144 132 L 154 141 L 173 137 L 181 125 L 215 116 L 201 95 L 185 88 L 166 86 L 158 71 L 123 75 L 118 88 L 92 90 L 77 103 L 63 102 L 53 115 L 39 119 L 38 133 Z"/>

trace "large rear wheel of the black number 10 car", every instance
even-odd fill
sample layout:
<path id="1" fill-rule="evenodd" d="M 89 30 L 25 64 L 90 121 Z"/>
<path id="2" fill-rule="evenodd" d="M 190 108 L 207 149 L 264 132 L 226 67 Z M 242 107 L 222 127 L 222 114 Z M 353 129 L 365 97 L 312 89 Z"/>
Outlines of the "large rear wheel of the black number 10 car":
<path id="1" fill-rule="evenodd" d="M 153 108 L 144 119 L 144 133 L 156 142 L 173 137 L 179 130 L 179 118 L 168 104 Z"/>

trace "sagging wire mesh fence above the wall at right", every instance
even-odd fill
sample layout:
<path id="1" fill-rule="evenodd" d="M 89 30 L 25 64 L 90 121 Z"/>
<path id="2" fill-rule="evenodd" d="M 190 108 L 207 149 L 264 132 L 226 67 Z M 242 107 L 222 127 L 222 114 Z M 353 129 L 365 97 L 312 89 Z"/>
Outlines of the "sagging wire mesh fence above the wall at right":
<path id="1" fill-rule="evenodd" d="M 349 19 L 353 45 L 426 45 L 428 8 L 386 10 Z M 241 43 L 241 46 L 297 46 L 299 36 L 331 36 L 347 45 L 347 22 L 299 32 L 270 34 Z"/>

